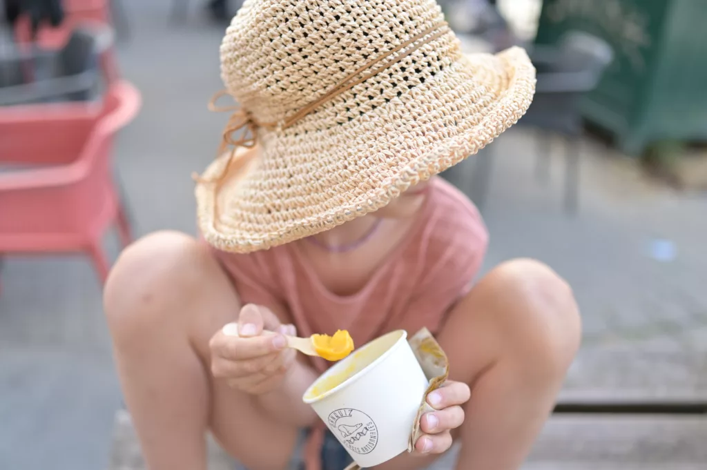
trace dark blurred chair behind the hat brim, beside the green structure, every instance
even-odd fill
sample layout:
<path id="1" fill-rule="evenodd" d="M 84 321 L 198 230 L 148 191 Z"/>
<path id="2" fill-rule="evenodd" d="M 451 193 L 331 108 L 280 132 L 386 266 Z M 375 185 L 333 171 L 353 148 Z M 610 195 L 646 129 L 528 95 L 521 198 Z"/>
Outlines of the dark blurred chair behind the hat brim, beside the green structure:
<path id="1" fill-rule="evenodd" d="M 556 46 L 534 47 L 530 57 L 537 69 L 535 96 L 517 125 L 537 131 L 536 175 L 539 180 L 549 177 L 551 139 L 547 134 L 563 136 L 566 148 L 563 205 L 567 213 L 575 213 L 580 173 L 578 138 L 583 131 L 580 98 L 597 86 L 614 53 L 604 40 L 571 31 Z M 491 146 L 479 153 L 471 177 L 472 199 L 479 208 L 486 202 L 494 151 L 496 147 Z"/>

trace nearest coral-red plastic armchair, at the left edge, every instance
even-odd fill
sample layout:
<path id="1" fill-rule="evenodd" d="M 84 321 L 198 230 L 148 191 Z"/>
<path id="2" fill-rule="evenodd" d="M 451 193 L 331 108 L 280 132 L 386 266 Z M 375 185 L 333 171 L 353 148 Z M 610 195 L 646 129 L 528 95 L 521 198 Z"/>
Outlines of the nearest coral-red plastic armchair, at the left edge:
<path id="1" fill-rule="evenodd" d="M 103 235 L 114 223 L 132 240 L 112 177 L 113 136 L 132 121 L 140 93 L 110 86 L 102 103 L 0 109 L 0 256 L 86 252 L 101 281 L 110 263 Z"/>

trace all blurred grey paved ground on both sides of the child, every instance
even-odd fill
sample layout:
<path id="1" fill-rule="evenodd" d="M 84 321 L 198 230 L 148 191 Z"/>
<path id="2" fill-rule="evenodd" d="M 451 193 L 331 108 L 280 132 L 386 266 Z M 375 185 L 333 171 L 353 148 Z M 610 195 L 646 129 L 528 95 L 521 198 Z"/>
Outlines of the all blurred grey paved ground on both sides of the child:
<path id="1" fill-rule="evenodd" d="M 206 111 L 220 88 L 222 31 L 195 11 L 187 24 L 168 26 L 168 0 L 123 3 L 132 37 L 120 60 L 144 95 L 116 155 L 136 232 L 194 233 L 189 174 L 211 160 L 223 125 L 223 116 Z M 493 146 L 484 269 L 527 256 L 566 276 L 583 310 L 585 348 L 707 353 L 707 198 L 648 182 L 633 163 L 586 140 L 582 206 L 568 218 L 560 206 L 559 148 L 544 185 L 532 177 L 531 134 L 512 130 Z M 677 247 L 672 261 L 649 256 L 656 239 Z M 113 237 L 106 246 L 115 255 Z M 0 468 L 105 468 L 120 393 L 90 264 L 12 257 L 1 278 Z"/>

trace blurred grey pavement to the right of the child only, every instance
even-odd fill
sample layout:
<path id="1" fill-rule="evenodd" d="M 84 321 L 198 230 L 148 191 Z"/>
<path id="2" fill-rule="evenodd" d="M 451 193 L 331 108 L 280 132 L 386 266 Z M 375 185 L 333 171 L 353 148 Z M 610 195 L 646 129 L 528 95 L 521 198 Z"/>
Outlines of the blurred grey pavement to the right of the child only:
<path id="1" fill-rule="evenodd" d="M 580 213 L 568 218 L 561 149 L 553 154 L 553 184 L 544 187 L 532 177 L 534 155 L 526 149 L 534 144 L 513 129 L 493 143 L 499 158 L 484 212 L 491 231 L 485 266 L 530 256 L 566 277 L 583 312 L 586 347 L 705 351 L 707 219 L 700 214 L 707 199 L 647 181 L 632 161 L 584 141 Z M 670 240 L 672 261 L 655 259 L 655 240 Z"/>

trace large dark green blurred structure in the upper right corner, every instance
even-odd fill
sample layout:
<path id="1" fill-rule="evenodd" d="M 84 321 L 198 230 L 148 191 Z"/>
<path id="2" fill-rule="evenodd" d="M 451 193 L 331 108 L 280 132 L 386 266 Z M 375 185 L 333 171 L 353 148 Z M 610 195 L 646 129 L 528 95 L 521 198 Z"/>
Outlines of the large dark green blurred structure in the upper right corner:
<path id="1" fill-rule="evenodd" d="M 544 0 L 535 42 L 569 30 L 609 42 L 614 63 L 583 116 L 640 155 L 654 141 L 707 139 L 706 21 L 704 0 Z"/>

